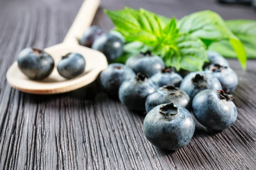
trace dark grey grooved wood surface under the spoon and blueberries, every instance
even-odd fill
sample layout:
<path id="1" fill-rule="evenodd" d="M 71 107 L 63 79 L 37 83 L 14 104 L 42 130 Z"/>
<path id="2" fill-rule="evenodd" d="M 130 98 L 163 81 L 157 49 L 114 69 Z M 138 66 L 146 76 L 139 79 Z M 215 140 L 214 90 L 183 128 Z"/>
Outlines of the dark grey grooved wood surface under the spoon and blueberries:
<path id="1" fill-rule="evenodd" d="M 175 152 L 153 147 L 142 115 L 109 99 L 97 82 L 67 94 L 32 95 L 12 89 L 6 71 L 19 51 L 61 42 L 81 0 L 0 0 L 0 170 L 3 169 L 256 169 L 256 61 L 239 76 L 236 123 L 219 133 L 197 124 L 192 141 Z M 103 0 L 94 24 L 113 25 L 103 8 L 143 7 L 177 18 L 211 9 L 224 19 L 256 19 L 250 6 L 214 0 Z"/>

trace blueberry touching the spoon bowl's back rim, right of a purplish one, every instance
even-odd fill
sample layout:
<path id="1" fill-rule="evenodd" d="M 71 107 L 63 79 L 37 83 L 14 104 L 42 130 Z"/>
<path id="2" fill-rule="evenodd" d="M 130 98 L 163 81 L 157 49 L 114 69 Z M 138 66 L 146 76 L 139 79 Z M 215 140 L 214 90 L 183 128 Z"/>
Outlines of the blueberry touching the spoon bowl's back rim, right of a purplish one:
<path id="1" fill-rule="evenodd" d="M 122 55 L 123 45 L 119 37 L 113 34 L 103 34 L 93 42 L 92 48 L 102 52 L 108 61 L 113 61 Z"/>

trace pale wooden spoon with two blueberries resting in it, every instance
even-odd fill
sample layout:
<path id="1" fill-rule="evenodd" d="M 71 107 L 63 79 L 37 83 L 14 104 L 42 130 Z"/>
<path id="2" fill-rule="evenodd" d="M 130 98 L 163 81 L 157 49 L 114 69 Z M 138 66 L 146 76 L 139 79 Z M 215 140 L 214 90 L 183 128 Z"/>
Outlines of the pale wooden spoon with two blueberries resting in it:
<path id="1" fill-rule="evenodd" d="M 76 90 L 93 82 L 99 73 L 108 67 L 107 59 L 101 52 L 79 45 L 77 39 L 80 39 L 83 32 L 90 27 L 99 3 L 100 0 L 85 0 L 64 41 L 44 49 L 53 57 L 55 62 L 55 68 L 49 77 L 41 81 L 31 80 L 20 71 L 16 61 L 6 73 L 8 83 L 13 88 L 26 93 L 58 94 Z M 61 56 L 70 52 L 81 54 L 86 61 L 86 66 L 84 73 L 80 76 L 65 79 L 58 74 L 56 65 Z"/>

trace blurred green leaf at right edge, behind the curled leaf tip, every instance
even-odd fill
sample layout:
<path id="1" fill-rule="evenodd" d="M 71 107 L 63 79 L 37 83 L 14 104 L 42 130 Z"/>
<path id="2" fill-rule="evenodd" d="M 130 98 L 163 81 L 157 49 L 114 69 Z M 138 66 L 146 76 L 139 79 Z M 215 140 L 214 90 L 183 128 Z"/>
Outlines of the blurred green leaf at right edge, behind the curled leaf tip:
<path id="1" fill-rule="evenodd" d="M 228 20 L 226 25 L 238 37 L 247 55 L 247 58 L 256 58 L 256 21 L 254 20 Z M 237 58 L 237 55 L 227 40 L 213 42 L 210 51 L 217 51 L 224 57 Z"/>

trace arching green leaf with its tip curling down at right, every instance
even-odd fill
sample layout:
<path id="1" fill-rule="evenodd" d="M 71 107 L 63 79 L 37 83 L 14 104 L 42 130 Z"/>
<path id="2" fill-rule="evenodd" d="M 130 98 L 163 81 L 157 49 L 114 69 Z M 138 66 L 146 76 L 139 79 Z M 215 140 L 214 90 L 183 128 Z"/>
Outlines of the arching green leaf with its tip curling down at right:
<path id="1" fill-rule="evenodd" d="M 199 11 L 179 21 L 181 34 L 197 36 L 210 45 L 212 42 L 229 39 L 242 68 L 246 68 L 246 54 L 241 41 L 227 28 L 220 15 L 213 11 Z"/>

